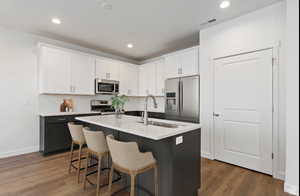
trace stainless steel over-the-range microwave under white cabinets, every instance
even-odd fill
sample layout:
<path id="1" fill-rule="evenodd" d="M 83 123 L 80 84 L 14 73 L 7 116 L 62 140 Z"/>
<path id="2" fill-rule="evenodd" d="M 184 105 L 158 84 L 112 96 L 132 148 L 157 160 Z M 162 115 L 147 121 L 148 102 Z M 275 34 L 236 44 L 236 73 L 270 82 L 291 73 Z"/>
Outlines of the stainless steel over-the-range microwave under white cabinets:
<path id="1" fill-rule="evenodd" d="M 119 81 L 96 79 L 95 93 L 102 95 L 117 95 L 119 94 Z"/>

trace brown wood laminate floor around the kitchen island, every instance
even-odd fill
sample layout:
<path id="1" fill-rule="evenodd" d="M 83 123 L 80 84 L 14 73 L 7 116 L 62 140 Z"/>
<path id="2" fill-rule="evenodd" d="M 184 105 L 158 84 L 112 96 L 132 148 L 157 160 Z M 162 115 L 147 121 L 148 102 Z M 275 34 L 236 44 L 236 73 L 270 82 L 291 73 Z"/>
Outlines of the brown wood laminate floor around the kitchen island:
<path id="1" fill-rule="evenodd" d="M 88 186 L 84 191 L 82 184 L 76 182 L 75 172 L 68 174 L 68 158 L 68 153 L 47 157 L 31 153 L 0 159 L 0 196 L 95 196 L 95 187 Z M 114 187 L 118 188 L 118 185 Z M 103 188 L 102 192 L 103 196 L 107 195 L 106 188 Z M 118 195 L 129 196 L 128 193 Z M 203 159 L 202 188 L 199 196 L 287 194 L 283 193 L 283 182 L 271 176 Z"/>

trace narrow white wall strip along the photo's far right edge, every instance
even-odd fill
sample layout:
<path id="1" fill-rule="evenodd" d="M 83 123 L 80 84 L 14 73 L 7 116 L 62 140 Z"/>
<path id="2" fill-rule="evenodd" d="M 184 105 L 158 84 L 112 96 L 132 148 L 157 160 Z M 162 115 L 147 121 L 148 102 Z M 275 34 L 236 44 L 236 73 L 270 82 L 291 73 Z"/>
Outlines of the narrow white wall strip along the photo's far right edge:
<path id="1" fill-rule="evenodd" d="M 286 36 L 285 191 L 299 195 L 299 0 L 287 0 Z"/>

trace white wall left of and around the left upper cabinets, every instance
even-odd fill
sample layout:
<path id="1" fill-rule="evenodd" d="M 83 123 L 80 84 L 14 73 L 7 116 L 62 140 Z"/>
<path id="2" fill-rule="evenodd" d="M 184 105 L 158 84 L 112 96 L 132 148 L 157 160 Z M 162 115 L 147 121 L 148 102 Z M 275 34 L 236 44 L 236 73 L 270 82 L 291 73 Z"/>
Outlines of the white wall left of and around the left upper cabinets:
<path id="1" fill-rule="evenodd" d="M 37 43 L 46 42 L 82 52 L 120 57 L 81 48 L 32 34 L 0 27 L 0 158 L 39 149 L 39 112 L 57 112 L 62 99 L 46 96 L 37 89 Z M 129 60 L 127 60 L 129 61 Z M 72 96 L 76 111 L 88 111 L 93 96 Z M 128 104 L 135 109 L 135 99 Z"/>

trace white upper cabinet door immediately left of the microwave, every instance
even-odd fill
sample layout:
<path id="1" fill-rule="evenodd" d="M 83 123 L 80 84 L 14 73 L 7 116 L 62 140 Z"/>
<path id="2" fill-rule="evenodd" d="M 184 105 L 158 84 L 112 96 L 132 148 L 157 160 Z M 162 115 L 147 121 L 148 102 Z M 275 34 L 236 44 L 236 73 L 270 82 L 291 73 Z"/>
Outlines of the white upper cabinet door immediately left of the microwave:
<path id="1" fill-rule="evenodd" d="M 95 94 L 95 60 L 88 55 L 72 54 L 71 85 L 74 94 Z"/>

